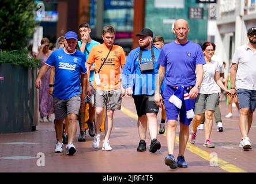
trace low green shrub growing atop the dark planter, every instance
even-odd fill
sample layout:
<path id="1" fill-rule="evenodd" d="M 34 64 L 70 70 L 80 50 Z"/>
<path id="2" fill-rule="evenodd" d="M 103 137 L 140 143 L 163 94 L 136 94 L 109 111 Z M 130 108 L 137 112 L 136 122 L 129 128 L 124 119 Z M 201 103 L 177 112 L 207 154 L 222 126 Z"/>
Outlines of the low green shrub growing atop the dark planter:
<path id="1" fill-rule="evenodd" d="M 0 64 L 10 63 L 14 65 L 22 65 L 28 68 L 39 67 L 40 60 L 33 57 L 28 57 L 28 51 L 10 51 L 0 52 Z"/>

